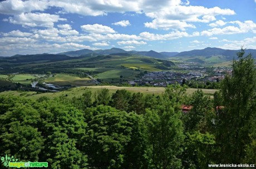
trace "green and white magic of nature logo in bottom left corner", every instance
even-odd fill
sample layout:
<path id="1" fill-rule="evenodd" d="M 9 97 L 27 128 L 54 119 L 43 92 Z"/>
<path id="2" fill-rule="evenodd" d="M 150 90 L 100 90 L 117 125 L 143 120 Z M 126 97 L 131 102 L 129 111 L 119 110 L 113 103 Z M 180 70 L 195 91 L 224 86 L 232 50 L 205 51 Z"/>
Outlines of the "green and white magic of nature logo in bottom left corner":
<path id="1" fill-rule="evenodd" d="M 18 162 L 17 158 L 15 159 L 13 156 L 8 157 L 7 155 L 5 157 L 1 157 L 1 161 L 3 165 L 6 167 L 48 167 L 48 162 Z"/>

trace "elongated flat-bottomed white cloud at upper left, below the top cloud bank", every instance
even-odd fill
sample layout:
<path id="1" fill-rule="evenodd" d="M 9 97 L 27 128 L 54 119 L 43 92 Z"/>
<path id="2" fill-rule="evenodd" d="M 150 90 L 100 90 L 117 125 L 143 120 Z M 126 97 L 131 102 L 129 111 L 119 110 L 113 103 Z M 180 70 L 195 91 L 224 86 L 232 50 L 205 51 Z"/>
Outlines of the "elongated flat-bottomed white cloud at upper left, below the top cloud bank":
<path id="1" fill-rule="evenodd" d="M 13 24 L 22 24 L 29 27 L 53 27 L 55 22 L 66 21 L 56 14 L 49 13 L 21 13 L 14 17 L 9 17 L 8 21 Z"/>

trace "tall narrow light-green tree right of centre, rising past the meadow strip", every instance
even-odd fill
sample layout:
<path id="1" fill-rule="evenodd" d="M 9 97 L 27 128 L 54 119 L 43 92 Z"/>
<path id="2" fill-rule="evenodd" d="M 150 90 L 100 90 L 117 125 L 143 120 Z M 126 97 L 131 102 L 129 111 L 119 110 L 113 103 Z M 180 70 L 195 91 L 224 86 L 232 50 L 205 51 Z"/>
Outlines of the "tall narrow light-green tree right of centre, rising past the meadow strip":
<path id="1" fill-rule="evenodd" d="M 178 93 L 182 95 L 183 88 L 169 86 L 159 103 L 146 109 L 147 158 L 151 168 L 181 168 L 184 133 Z"/>

